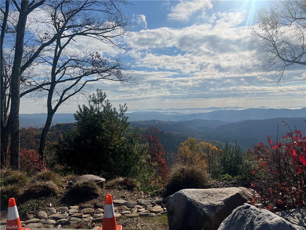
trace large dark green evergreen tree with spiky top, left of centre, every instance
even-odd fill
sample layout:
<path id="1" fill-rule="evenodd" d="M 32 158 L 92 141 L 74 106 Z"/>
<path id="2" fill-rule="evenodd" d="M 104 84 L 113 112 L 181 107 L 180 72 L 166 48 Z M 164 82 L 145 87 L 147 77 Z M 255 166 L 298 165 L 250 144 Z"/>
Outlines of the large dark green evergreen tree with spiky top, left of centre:
<path id="1" fill-rule="evenodd" d="M 89 106 L 79 106 L 74 114 L 76 127 L 58 144 L 58 162 L 80 174 L 136 178 L 145 172 L 146 148 L 140 133 L 129 128 L 126 105 L 119 111 L 97 90 Z"/>

